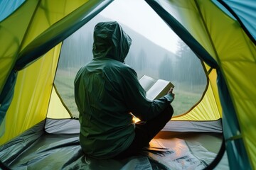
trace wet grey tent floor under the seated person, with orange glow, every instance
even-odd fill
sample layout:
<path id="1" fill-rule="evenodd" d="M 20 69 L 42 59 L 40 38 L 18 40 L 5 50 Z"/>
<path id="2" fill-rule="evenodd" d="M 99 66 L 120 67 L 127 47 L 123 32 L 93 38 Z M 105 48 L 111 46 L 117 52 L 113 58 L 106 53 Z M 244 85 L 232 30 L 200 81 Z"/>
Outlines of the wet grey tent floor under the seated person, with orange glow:
<path id="1" fill-rule="evenodd" d="M 145 149 L 146 155 L 98 160 L 82 154 L 78 134 L 43 133 L 8 166 L 11 169 L 204 169 L 218 154 L 222 137 L 210 132 L 160 132 Z"/>

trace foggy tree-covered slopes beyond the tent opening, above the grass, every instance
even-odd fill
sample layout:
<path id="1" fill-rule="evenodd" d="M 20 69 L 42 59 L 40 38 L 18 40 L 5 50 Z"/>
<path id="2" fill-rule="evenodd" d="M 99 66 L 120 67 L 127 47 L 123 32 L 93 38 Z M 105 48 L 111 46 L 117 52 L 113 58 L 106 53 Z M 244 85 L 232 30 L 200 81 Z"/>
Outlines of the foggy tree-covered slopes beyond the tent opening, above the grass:
<path id="1" fill-rule="evenodd" d="M 79 33 L 63 42 L 59 69 L 68 68 L 70 74 L 75 74 L 82 65 L 92 60 L 93 29 L 100 21 L 109 20 L 97 17 L 79 30 Z M 206 83 L 200 60 L 182 41 L 178 42 L 179 48 L 174 54 L 131 30 L 128 26 L 122 27 L 132 38 L 132 45 L 125 62 L 137 71 L 138 77 L 148 74 L 156 79 L 187 82 L 188 84 Z"/>

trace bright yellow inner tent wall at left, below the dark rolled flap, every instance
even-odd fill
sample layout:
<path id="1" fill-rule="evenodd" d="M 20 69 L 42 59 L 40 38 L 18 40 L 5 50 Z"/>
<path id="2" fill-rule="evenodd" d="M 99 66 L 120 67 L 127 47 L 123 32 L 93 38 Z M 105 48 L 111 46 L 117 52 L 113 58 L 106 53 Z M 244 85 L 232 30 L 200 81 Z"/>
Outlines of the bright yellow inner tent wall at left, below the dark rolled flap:
<path id="1" fill-rule="evenodd" d="M 61 44 L 57 45 L 40 60 L 18 72 L 16 92 L 6 113 L 6 130 L 0 145 L 46 118 L 60 47 Z"/>

